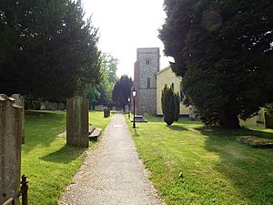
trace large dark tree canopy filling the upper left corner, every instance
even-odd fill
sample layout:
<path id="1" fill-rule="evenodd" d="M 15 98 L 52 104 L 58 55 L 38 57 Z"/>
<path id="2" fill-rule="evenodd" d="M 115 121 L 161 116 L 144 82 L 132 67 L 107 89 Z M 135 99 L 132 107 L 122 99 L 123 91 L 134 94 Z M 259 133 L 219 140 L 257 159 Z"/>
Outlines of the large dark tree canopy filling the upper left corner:
<path id="1" fill-rule="evenodd" d="M 66 99 L 100 81 L 97 30 L 80 1 L 0 0 L 0 93 Z"/>

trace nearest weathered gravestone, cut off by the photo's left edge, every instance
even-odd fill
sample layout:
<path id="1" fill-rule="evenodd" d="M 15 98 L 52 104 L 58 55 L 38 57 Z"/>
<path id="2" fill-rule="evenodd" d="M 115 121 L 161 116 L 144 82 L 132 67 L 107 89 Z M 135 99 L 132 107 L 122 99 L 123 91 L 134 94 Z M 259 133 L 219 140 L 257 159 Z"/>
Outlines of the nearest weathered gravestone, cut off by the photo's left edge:
<path id="1" fill-rule="evenodd" d="M 0 94 L 0 204 L 20 189 L 22 120 L 23 108 Z"/>

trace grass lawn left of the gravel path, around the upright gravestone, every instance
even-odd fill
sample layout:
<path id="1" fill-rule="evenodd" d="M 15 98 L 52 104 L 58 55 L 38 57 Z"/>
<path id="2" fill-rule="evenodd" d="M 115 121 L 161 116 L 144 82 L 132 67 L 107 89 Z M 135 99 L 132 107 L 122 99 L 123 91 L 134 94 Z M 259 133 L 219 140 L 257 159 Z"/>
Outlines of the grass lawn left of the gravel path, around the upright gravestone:
<path id="1" fill-rule="evenodd" d="M 91 111 L 90 123 L 106 128 L 110 118 Z M 56 204 L 66 185 L 85 158 L 86 149 L 66 146 L 57 135 L 66 130 L 62 111 L 26 111 L 25 144 L 22 147 L 21 173 L 29 180 L 29 204 Z M 93 147 L 94 142 L 90 142 Z"/>

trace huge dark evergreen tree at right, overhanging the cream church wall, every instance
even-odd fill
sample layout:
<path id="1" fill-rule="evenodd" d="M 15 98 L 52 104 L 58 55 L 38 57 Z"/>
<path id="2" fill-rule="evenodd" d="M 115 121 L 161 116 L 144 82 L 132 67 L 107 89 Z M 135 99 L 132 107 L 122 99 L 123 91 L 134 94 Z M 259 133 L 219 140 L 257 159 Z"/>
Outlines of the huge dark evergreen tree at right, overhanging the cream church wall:
<path id="1" fill-rule="evenodd" d="M 165 0 L 160 31 L 183 91 L 206 124 L 239 128 L 273 101 L 273 2 Z"/>

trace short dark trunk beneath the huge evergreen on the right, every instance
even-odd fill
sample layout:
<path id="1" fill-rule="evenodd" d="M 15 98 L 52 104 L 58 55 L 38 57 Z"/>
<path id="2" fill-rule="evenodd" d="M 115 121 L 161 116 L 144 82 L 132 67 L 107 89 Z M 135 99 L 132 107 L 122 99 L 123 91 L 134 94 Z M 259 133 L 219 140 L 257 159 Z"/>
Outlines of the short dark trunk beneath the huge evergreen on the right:
<path id="1" fill-rule="evenodd" d="M 219 112 L 219 125 L 223 128 L 240 128 L 238 114 L 231 109 L 223 108 Z"/>

